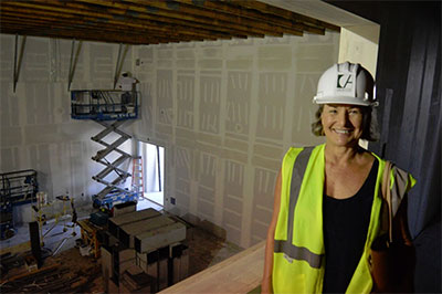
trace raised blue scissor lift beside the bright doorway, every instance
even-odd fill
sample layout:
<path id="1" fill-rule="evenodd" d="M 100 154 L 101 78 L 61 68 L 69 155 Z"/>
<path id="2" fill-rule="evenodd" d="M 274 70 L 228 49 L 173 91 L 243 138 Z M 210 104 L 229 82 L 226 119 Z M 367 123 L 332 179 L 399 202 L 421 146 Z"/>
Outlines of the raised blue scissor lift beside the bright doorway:
<path id="1" fill-rule="evenodd" d="M 105 127 L 91 138 L 104 146 L 104 149 L 98 150 L 92 159 L 105 166 L 102 171 L 92 177 L 104 185 L 104 188 L 94 196 L 94 207 L 110 209 L 117 203 L 138 200 L 137 191 L 122 187 L 131 175 L 120 167 L 134 157 L 119 148 L 131 136 L 118 129 L 127 119 L 138 117 L 137 94 L 113 90 L 71 92 L 72 118 L 92 119 Z M 113 143 L 107 143 L 105 140 L 107 136 L 117 138 Z"/>

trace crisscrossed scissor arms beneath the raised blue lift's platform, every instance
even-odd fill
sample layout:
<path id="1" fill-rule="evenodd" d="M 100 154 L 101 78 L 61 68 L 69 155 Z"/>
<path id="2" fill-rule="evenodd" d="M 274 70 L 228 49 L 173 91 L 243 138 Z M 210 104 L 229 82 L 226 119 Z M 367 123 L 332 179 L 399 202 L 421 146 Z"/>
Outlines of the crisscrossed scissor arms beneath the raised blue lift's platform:
<path id="1" fill-rule="evenodd" d="M 105 129 L 103 129 L 97 135 L 91 138 L 92 140 L 105 147 L 104 149 L 98 150 L 97 154 L 92 157 L 94 161 L 105 166 L 105 168 L 102 171 L 92 177 L 95 181 L 105 186 L 96 195 L 96 198 L 98 199 L 98 201 L 104 200 L 112 192 L 113 193 L 117 192 L 120 196 L 123 195 L 123 198 L 125 196 L 129 196 L 131 191 L 119 187 L 122 183 L 126 182 L 126 179 L 128 177 L 130 177 L 130 174 L 122 169 L 120 166 L 124 162 L 127 162 L 128 159 L 133 158 L 130 154 L 127 154 L 118 148 L 122 144 L 131 138 L 128 134 L 118 129 L 118 127 L 122 126 L 125 123 L 125 120 L 116 120 L 112 124 L 104 120 L 94 120 L 94 122 L 105 127 Z M 108 144 L 103 139 L 110 134 L 116 134 L 118 138 L 115 139 L 112 144 Z M 119 156 L 115 160 L 109 161 L 106 157 L 109 157 L 114 153 L 117 153 Z"/>

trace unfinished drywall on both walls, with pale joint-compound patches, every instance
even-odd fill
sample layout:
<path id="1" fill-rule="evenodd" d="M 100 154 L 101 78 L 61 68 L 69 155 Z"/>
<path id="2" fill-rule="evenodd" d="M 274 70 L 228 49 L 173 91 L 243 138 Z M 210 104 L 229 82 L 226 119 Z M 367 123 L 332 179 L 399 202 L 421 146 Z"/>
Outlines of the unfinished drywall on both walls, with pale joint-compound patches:
<path id="1" fill-rule="evenodd" d="M 0 38 L 1 171 L 36 169 L 50 199 L 69 191 L 88 202 L 102 168 L 90 137 L 102 127 L 70 117 L 71 42 L 28 38 L 13 93 L 14 36 Z M 140 81 L 141 108 L 126 129 L 166 147 L 166 209 L 215 223 L 242 246 L 264 239 L 285 151 L 322 143 L 309 130 L 312 97 L 338 43 L 327 32 L 133 46 L 123 70 Z M 85 42 L 71 90 L 112 88 L 117 55 L 116 44 Z"/>

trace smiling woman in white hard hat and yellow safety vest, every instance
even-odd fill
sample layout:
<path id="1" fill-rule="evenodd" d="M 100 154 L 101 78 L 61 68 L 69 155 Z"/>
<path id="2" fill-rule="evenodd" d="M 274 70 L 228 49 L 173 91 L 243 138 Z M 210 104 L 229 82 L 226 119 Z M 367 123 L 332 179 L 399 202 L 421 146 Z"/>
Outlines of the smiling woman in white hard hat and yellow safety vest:
<path id="1" fill-rule="evenodd" d="M 359 64 L 335 64 L 319 78 L 313 132 L 326 143 L 291 148 L 283 159 L 263 293 L 372 291 L 370 248 L 383 233 L 380 187 L 386 161 L 358 145 L 376 137 L 372 92 L 373 80 Z M 398 168 L 391 177 L 393 186 L 400 186 L 401 193 L 394 196 L 400 203 L 414 179 Z"/>

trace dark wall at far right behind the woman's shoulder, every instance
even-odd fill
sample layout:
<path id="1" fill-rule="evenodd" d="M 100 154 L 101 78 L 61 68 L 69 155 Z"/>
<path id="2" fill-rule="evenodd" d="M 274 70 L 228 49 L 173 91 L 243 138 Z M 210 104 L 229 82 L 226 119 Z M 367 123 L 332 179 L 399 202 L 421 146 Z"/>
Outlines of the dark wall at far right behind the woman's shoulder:
<path id="1" fill-rule="evenodd" d="M 409 193 L 417 292 L 441 290 L 441 1 L 327 1 L 379 23 L 381 139 L 369 148 L 418 180 Z"/>

